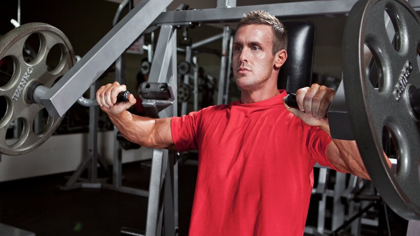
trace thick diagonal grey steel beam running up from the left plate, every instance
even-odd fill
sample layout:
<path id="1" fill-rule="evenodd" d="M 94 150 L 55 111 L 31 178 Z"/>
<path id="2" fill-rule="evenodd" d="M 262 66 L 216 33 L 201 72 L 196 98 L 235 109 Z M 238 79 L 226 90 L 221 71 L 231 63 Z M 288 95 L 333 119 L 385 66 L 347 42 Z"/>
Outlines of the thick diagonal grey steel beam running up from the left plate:
<path id="1" fill-rule="evenodd" d="M 74 65 L 40 102 L 61 117 L 133 43 L 172 0 L 143 0 Z"/>

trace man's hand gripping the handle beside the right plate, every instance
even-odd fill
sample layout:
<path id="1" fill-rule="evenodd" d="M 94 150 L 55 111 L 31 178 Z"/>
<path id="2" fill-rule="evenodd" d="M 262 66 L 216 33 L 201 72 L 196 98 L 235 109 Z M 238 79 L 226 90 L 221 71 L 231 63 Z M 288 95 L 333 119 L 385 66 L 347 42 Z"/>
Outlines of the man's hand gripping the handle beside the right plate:
<path id="1" fill-rule="evenodd" d="M 299 109 L 288 107 L 284 98 L 283 104 L 306 124 L 322 127 L 328 126 L 326 114 L 334 96 L 334 89 L 314 83 L 311 87 L 304 87 L 296 92 Z"/>

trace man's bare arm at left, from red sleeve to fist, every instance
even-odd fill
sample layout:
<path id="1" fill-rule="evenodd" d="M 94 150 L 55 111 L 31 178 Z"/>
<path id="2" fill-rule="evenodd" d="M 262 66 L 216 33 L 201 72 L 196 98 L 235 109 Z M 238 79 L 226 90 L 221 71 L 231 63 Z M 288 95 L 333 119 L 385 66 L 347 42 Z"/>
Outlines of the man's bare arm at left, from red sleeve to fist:
<path id="1" fill-rule="evenodd" d="M 136 104 L 131 94 L 128 102 L 116 103 L 119 92 L 127 90 L 118 82 L 101 86 L 96 92 L 96 101 L 102 111 L 127 140 L 147 148 L 176 149 L 172 139 L 172 118 L 153 119 L 131 114 L 127 111 Z"/>

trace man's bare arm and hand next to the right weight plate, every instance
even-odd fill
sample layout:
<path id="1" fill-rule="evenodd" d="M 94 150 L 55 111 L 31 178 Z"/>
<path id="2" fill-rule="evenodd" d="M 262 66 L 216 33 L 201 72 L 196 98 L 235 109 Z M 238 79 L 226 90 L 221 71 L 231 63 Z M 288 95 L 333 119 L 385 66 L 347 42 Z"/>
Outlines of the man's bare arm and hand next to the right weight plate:
<path id="1" fill-rule="evenodd" d="M 334 96 L 334 89 L 313 84 L 311 87 L 301 88 L 296 92 L 299 109 L 288 107 L 284 100 L 283 103 L 288 111 L 303 122 L 311 126 L 318 126 L 331 136 L 326 114 Z M 357 149 L 356 141 L 332 139 L 326 155 L 328 161 L 338 170 L 370 179 Z"/>

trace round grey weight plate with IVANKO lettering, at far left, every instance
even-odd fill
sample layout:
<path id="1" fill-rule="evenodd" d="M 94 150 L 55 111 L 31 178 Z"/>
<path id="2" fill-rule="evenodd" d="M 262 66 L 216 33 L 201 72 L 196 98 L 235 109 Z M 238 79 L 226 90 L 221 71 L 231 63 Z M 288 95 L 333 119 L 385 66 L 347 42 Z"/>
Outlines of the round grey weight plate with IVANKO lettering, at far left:
<path id="1" fill-rule="evenodd" d="M 25 62 L 22 50 L 29 35 L 39 36 L 39 51 L 29 63 Z M 50 49 L 58 44 L 61 48 L 61 59 L 57 67 L 47 69 L 47 56 Z M 73 48 L 63 32 L 44 23 L 21 25 L 0 39 L 0 59 L 11 57 L 14 62 L 14 73 L 10 81 L 0 87 L 0 96 L 7 100 L 7 110 L 0 120 L 0 153 L 21 155 L 32 151 L 43 144 L 57 129 L 62 118 L 48 116 L 43 130 L 34 132 L 34 121 L 37 113 L 44 106 L 31 104 L 26 99 L 28 85 L 39 82 L 51 87 L 56 79 L 63 76 L 75 63 Z M 12 122 L 20 119 L 23 129 L 16 142 L 6 141 L 6 132 Z M 14 122 L 16 124 L 18 122 Z"/>

